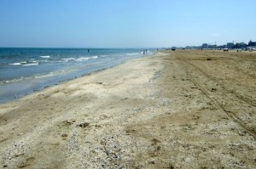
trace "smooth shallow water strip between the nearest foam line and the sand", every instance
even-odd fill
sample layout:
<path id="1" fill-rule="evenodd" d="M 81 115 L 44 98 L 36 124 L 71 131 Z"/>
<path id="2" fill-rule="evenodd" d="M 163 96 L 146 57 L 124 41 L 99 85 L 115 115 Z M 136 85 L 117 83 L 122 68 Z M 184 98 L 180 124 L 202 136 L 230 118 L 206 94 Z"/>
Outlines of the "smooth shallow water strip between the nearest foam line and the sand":
<path id="1" fill-rule="evenodd" d="M 154 53 L 153 53 L 154 54 Z M 150 56 L 146 55 L 147 56 Z M 143 58 L 145 56 L 139 56 L 137 58 Z M 131 59 L 137 59 L 137 58 L 131 58 Z M 100 65 L 90 65 L 85 66 L 83 69 L 73 70 L 73 71 L 67 71 L 67 72 L 59 72 L 55 73 L 55 75 L 42 75 L 42 76 L 31 76 L 26 77 L 22 80 L 17 80 L 19 82 L 10 82 L 10 83 L 3 83 L 1 84 L 2 92 L 1 98 L 0 98 L 0 104 L 6 104 L 11 101 L 14 101 L 16 99 L 21 99 L 29 94 L 37 93 L 38 91 L 42 91 L 47 87 L 52 87 L 55 85 L 59 85 L 62 82 L 68 82 L 72 81 L 73 79 L 90 75 L 93 72 L 99 71 L 99 70 L 105 70 L 112 68 L 116 65 L 121 65 L 125 63 L 126 61 L 129 61 L 130 59 L 120 59 L 116 61 L 110 61 L 106 62 Z M 51 72 L 52 73 L 52 72 Z M 8 91 L 8 92 L 5 92 Z"/>

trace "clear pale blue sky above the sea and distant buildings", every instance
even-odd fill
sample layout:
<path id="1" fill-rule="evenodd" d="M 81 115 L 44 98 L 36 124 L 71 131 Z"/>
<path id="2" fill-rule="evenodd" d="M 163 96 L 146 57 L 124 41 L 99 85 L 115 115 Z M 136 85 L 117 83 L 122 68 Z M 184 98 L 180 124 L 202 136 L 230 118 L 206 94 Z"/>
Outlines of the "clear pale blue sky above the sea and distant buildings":
<path id="1" fill-rule="evenodd" d="M 0 0 L 0 47 L 161 48 L 256 41 L 256 0 Z"/>

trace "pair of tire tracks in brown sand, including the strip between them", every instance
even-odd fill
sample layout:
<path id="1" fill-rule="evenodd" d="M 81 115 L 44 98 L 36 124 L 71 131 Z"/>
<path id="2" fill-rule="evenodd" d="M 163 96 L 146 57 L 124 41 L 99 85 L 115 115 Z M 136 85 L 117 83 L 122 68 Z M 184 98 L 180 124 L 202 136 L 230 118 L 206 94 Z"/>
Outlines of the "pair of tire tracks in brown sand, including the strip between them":
<path id="1" fill-rule="evenodd" d="M 219 110 L 224 110 L 232 121 L 235 121 L 254 139 L 256 138 L 256 125 L 254 124 L 256 120 L 254 112 L 256 110 L 252 101 L 232 93 L 221 82 L 207 75 L 201 68 L 185 60 L 174 58 L 177 60 L 177 64 L 186 70 L 190 81 L 200 88 Z"/>

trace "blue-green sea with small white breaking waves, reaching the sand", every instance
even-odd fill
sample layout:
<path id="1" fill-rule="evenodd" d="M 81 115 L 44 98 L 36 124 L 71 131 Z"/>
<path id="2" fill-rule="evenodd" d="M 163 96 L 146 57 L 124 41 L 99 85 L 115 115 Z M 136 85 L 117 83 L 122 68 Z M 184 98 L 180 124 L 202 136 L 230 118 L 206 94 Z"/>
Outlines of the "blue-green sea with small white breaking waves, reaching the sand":
<path id="1" fill-rule="evenodd" d="M 0 104 L 154 54 L 142 48 L 0 48 Z"/>

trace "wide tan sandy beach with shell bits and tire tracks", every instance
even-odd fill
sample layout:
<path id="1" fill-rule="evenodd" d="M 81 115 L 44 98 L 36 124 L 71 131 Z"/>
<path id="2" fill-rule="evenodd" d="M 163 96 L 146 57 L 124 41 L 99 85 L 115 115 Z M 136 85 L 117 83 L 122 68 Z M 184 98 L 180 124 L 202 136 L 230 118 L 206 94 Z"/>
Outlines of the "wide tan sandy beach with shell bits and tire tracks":
<path id="1" fill-rule="evenodd" d="M 159 53 L 0 105 L 0 168 L 256 168 L 255 138 L 255 53 Z"/>

